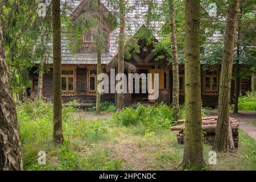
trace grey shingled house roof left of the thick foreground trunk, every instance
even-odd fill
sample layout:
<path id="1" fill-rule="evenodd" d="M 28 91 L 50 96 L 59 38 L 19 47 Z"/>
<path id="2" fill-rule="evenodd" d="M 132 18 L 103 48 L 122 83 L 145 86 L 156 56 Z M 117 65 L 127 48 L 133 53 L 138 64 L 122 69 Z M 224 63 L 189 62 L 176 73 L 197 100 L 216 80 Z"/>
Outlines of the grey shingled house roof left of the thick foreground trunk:
<path id="1" fill-rule="evenodd" d="M 68 12 L 68 14 L 72 15 L 75 11 L 81 11 L 83 8 L 82 6 L 86 6 L 88 0 L 68 0 L 70 5 L 74 7 L 72 12 Z M 102 4 L 108 9 L 110 12 L 114 11 L 114 7 L 110 5 L 109 1 L 111 0 L 101 0 Z M 159 0 L 155 0 L 159 1 Z M 67 1 L 65 1 L 67 3 Z M 69 5 L 69 6 L 70 6 Z M 146 24 L 146 12 L 147 12 L 147 5 L 144 3 L 138 3 L 138 0 L 128 0 L 126 3 L 127 7 L 131 7 L 137 5 L 135 9 L 130 10 L 126 14 L 126 36 L 129 39 L 130 36 L 133 36 L 139 28 Z M 159 22 L 150 22 L 150 27 L 154 27 L 152 29 L 156 30 L 152 32 L 156 39 L 160 39 L 161 37 L 157 34 L 157 30 L 160 29 Z M 110 61 L 113 59 L 115 55 L 117 55 L 118 51 L 118 35 L 119 35 L 119 28 L 113 30 L 110 33 L 110 47 L 109 53 L 103 53 L 101 55 L 101 63 L 102 64 L 109 64 Z M 97 54 L 96 53 L 74 53 L 71 48 L 68 47 L 69 40 L 65 37 L 61 38 L 61 56 L 62 56 L 62 64 L 97 64 Z M 52 43 L 48 44 L 52 47 Z M 49 59 L 47 64 L 52 64 L 52 56 L 49 55 Z"/>

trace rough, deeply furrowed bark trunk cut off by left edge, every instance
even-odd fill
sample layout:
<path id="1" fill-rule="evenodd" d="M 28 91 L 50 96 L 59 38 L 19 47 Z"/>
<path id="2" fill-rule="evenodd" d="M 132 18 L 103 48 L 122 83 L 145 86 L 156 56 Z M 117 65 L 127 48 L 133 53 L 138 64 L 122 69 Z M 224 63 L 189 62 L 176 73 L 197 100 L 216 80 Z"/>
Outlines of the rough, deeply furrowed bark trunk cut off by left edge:
<path id="1" fill-rule="evenodd" d="M 21 143 L 0 19 L 0 171 L 22 170 Z"/>

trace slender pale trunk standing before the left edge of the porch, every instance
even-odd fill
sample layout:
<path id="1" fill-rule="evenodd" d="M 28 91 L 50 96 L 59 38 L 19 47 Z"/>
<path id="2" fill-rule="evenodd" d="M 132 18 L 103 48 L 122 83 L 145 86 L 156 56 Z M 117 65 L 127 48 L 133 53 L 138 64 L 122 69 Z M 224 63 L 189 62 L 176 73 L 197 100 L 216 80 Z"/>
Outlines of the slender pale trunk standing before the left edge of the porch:
<path id="1" fill-rule="evenodd" d="M 117 73 L 123 73 L 125 67 L 125 0 L 119 0 L 119 16 L 120 16 L 120 30 L 119 30 L 119 41 L 118 41 L 118 71 Z M 118 81 L 121 78 L 118 76 Z M 123 81 L 123 80 L 122 80 Z M 124 85 L 124 83 L 122 84 Z M 123 93 L 117 94 L 117 109 L 123 108 Z"/>

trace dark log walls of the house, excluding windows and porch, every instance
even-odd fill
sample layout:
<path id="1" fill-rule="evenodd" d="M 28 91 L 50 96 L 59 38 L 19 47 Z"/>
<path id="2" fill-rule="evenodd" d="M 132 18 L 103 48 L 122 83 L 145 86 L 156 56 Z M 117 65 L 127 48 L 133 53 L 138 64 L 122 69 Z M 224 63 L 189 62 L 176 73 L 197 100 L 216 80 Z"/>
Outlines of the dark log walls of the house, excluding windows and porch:
<path id="1" fill-rule="evenodd" d="M 78 65 L 74 65 L 77 67 Z M 87 66 L 87 67 L 86 67 Z M 82 103 L 94 103 L 96 102 L 96 96 L 90 96 L 88 95 L 88 67 L 92 67 L 91 65 L 84 65 L 82 68 L 78 67 L 76 68 L 76 94 L 75 96 L 63 96 L 63 102 L 69 102 L 73 100 L 78 100 Z M 36 68 L 31 69 L 31 89 L 30 89 L 30 98 L 35 99 L 36 94 L 37 94 L 37 88 L 38 88 L 38 74 L 35 73 Z M 204 94 L 204 74 L 203 74 L 203 69 L 201 70 L 201 99 L 203 101 L 204 106 L 217 106 L 218 104 L 218 94 L 213 94 L 213 95 L 207 95 Z M 110 73 L 108 73 L 110 77 Z M 180 104 L 184 104 L 185 101 L 185 93 L 184 93 L 184 66 L 180 65 L 179 68 L 179 75 L 180 79 L 183 79 L 183 86 L 182 84 L 180 85 L 180 88 L 183 88 L 180 90 Z M 160 93 L 159 99 L 157 100 L 158 102 L 167 102 L 166 100 L 170 100 L 172 103 L 172 84 L 173 84 L 173 78 L 172 78 L 172 70 L 170 67 L 170 96 L 168 92 Z M 243 84 L 243 94 L 246 92 L 246 90 L 250 90 L 250 81 L 248 79 L 243 79 L 242 80 Z M 236 83 L 234 80 L 232 80 L 232 85 L 231 85 L 231 104 L 233 104 L 233 98 L 234 98 L 234 92 L 235 92 L 235 86 Z M 110 82 L 109 82 L 109 88 L 110 88 Z M 166 95 L 168 94 L 168 96 Z M 51 101 L 53 98 L 53 72 L 52 68 L 49 68 L 48 73 L 44 73 L 43 76 L 43 97 L 46 98 L 46 100 Z M 115 94 L 104 94 L 101 96 L 101 101 L 109 101 L 109 102 L 115 102 Z M 126 97 L 126 105 L 129 105 L 131 103 L 131 97 L 127 94 Z M 167 102 L 168 103 L 168 102 Z M 169 104 L 169 103 L 168 103 Z"/>

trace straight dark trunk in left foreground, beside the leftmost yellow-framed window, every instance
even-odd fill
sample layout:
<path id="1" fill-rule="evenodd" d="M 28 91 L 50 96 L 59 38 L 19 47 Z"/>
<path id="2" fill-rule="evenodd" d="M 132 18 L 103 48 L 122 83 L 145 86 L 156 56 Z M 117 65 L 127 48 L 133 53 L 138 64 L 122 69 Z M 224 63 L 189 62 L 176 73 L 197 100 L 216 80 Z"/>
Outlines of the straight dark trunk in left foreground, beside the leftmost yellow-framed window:
<path id="1" fill-rule="evenodd" d="M 52 28 L 53 28 L 53 141 L 62 143 L 61 116 L 61 25 L 60 0 L 52 1 Z"/>

